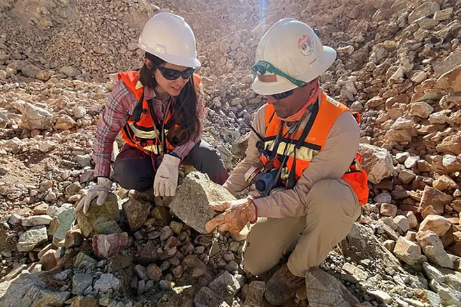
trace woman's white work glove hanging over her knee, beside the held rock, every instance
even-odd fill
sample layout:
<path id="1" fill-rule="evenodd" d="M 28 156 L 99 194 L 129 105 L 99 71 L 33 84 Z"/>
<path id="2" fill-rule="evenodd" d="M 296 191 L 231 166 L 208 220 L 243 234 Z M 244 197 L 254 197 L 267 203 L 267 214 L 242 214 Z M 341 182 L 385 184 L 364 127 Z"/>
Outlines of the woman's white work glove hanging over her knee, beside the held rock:
<path id="1" fill-rule="evenodd" d="M 181 159 L 166 154 L 155 174 L 154 195 L 175 196 Z"/>

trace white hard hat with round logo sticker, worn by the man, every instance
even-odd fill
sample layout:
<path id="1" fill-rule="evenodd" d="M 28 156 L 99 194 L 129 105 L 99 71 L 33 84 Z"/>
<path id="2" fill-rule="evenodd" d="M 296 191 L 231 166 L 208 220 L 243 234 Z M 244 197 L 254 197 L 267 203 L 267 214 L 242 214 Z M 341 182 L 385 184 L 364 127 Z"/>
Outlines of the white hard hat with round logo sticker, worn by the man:
<path id="1" fill-rule="evenodd" d="M 336 51 L 322 45 L 314 30 L 293 18 L 284 18 L 274 24 L 261 38 L 256 49 L 256 64 L 269 63 L 295 81 L 310 82 L 326 70 L 336 59 Z M 257 66 L 257 65 L 255 65 Z M 299 87 L 278 73 L 256 73 L 251 86 L 260 95 L 283 93 Z"/>

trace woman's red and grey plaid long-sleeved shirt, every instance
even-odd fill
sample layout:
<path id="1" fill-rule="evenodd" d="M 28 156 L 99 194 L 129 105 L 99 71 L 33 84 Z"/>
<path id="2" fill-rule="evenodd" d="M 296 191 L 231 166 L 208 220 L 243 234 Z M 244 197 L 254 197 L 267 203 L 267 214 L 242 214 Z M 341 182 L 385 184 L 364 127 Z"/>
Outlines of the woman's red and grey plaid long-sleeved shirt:
<path id="1" fill-rule="evenodd" d="M 154 90 L 149 87 L 145 87 L 144 97 L 146 100 L 152 99 L 156 118 L 163 119 L 163 109 L 166 108 L 168 99 L 156 99 Z M 115 137 L 117 137 L 120 130 L 122 130 L 126 122 L 131 118 L 131 115 L 133 115 L 137 103 L 138 100 L 135 94 L 120 80 L 115 85 L 112 93 L 110 93 L 108 103 L 105 104 L 96 128 L 93 153 L 93 159 L 96 164 L 94 168 L 96 177 L 109 177 L 110 158 L 112 156 Z M 198 100 L 197 111 L 200 120 L 203 122 L 203 105 L 200 98 Z M 195 140 L 189 140 L 186 144 L 175 147 L 173 153 L 184 159 L 201 137 L 202 131 L 200 130 Z"/>

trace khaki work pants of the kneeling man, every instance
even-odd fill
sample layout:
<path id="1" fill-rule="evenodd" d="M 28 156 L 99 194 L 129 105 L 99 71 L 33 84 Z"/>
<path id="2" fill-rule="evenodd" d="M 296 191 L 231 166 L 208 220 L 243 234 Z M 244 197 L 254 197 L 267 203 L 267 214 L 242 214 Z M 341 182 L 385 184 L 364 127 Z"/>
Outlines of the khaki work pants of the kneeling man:
<path id="1" fill-rule="evenodd" d="M 272 269 L 300 235 L 288 259 L 288 269 L 304 277 L 307 269 L 323 262 L 349 234 L 362 212 L 356 193 L 342 179 L 314 184 L 306 206 L 306 216 L 260 218 L 251 227 L 244 250 L 247 271 L 260 275 Z"/>

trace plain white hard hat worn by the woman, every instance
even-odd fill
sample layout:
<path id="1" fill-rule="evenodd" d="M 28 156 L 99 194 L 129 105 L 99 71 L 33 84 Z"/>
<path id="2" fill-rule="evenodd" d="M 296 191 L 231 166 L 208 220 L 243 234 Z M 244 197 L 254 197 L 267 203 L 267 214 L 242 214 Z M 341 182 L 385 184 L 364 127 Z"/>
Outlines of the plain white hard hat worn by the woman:
<path id="1" fill-rule="evenodd" d="M 198 67 L 196 37 L 184 18 L 171 13 L 152 16 L 142 29 L 138 47 L 175 65 Z"/>

